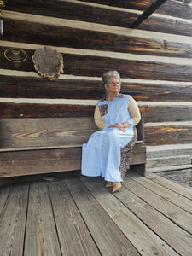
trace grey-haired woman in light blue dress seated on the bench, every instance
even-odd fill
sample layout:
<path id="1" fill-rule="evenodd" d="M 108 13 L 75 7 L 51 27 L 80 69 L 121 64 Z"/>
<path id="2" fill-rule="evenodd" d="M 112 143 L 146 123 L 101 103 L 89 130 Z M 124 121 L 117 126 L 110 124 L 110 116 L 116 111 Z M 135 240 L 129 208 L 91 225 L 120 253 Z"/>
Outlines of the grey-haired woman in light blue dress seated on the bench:
<path id="1" fill-rule="evenodd" d="M 100 131 L 94 132 L 88 143 L 83 145 L 82 175 L 102 176 L 113 187 L 113 192 L 121 187 L 122 172 L 119 171 L 122 149 L 128 152 L 137 141 L 135 125 L 141 115 L 137 102 L 129 95 L 120 94 L 120 76 L 117 71 L 108 71 L 102 76 L 106 97 L 95 109 L 94 119 Z M 125 147 L 126 146 L 126 147 Z M 130 154 L 129 154 L 130 158 Z"/>

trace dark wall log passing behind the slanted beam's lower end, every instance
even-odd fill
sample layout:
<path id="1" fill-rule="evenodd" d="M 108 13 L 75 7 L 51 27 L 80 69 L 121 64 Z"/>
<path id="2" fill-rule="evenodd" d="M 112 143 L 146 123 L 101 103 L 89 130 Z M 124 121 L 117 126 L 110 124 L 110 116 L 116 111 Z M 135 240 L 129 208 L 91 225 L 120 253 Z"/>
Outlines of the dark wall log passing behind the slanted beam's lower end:
<path id="1" fill-rule="evenodd" d="M 34 15 L 44 16 L 44 13 L 46 12 L 47 16 L 52 16 L 56 18 L 82 20 L 86 22 L 100 23 L 109 26 L 124 27 L 131 27 L 131 24 L 135 20 L 137 20 L 137 17 L 140 15 L 140 13 L 125 13 L 124 11 L 120 11 L 117 9 L 102 9 L 96 6 L 84 5 L 82 3 L 46 3 L 44 5 L 44 9 L 42 9 L 41 6 L 42 3 L 29 4 L 26 1 L 13 1 L 12 3 L 12 1 L 10 1 L 9 5 L 6 5 L 6 8 L 18 12 L 31 13 Z M 138 26 L 137 29 L 144 29 L 154 32 L 168 32 L 173 34 L 191 36 L 191 25 L 189 24 L 189 22 L 185 22 L 183 20 L 176 20 L 177 18 L 175 20 L 172 18 L 169 19 L 168 16 L 166 19 L 160 16 L 151 16 L 147 20 L 145 20 L 140 26 Z M 16 23 L 17 22 L 15 22 L 15 26 Z"/>

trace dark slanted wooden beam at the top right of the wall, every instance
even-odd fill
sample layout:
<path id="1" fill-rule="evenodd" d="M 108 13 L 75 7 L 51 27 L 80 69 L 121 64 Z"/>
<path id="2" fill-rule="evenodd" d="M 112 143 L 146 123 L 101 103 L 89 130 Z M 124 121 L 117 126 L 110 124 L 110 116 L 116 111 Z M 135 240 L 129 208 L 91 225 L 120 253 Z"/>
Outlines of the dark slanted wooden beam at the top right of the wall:
<path id="1" fill-rule="evenodd" d="M 165 3 L 166 0 L 157 0 L 152 3 L 148 9 L 146 9 L 142 15 L 140 15 L 136 21 L 131 24 L 131 28 L 136 28 L 139 24 L 141 24 L 144 20 L 148 18 L 149 15 L 152 15 L 156 9 L 160 7 L 161 4 Z"/>

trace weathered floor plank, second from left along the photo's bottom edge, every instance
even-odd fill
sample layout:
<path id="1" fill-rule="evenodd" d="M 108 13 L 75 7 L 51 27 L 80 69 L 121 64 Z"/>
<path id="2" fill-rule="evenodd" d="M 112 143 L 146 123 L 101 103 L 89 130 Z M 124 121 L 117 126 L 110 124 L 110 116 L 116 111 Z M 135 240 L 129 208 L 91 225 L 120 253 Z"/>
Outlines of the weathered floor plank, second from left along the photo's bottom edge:
<path id="1" fill-rule="evenodd" d="M 31 184 L 23 253 L 25 256 L 61 255 L 49 200 L 49 191 L 45 183 Z"/>

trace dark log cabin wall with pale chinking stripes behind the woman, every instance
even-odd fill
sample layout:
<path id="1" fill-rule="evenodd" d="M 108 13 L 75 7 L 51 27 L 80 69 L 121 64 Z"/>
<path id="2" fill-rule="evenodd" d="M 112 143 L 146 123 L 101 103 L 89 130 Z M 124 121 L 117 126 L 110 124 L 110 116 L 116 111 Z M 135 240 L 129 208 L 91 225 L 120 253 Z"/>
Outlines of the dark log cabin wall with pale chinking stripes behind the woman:
<path id="1" fill-rule="evenodd" d="M 131 29 L 153 2 L 8 0 L 0 38 L 0 117 L 93 116 L 103 95 L 102 73 L 116 69 L 121 91 L 144 114 L 148 160 L 192 155 L 192 4 L 166 1 Z M 63 55 L 64 73 L 54 81 L 33 67 L 32 55 L 44 46 Z M 8 61 L 8 48 L 24 49 L 26 61 Z"/>

